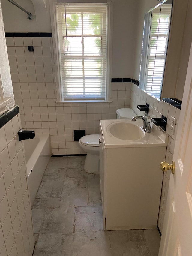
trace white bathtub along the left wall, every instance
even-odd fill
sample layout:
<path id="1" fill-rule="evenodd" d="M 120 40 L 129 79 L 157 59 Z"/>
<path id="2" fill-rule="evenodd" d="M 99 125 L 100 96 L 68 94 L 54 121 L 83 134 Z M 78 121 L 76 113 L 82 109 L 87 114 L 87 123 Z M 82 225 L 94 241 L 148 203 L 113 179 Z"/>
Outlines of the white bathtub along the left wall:
<path id="1" fill-rule="evenodd" d="M 23 143 L 26 155 L 29 197 L 31 206 L 33 206 L 35 196 L 51 156 L 50 136 L 49 134 L 35 134 L 34 139 L 23 140 Z"/>

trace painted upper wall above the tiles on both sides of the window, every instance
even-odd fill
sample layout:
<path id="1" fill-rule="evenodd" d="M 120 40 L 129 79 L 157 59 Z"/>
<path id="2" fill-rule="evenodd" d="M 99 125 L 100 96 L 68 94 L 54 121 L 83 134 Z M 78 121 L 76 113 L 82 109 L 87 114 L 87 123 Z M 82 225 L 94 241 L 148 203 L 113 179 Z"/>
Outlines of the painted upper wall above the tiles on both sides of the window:
<path id="1" fill-rule="evenodd" d="M 45 11 L 43 0 L 17 0 L 19 5 L 36 15 L 32 21 L 27 19 L 26 13 L 7 0 L 1 1 L 5 32 L 51 32 L 49 1 L 46 2 Z M 113 78 L 133 77 L 138 3 L 139 0 L 114 0 Z"/>

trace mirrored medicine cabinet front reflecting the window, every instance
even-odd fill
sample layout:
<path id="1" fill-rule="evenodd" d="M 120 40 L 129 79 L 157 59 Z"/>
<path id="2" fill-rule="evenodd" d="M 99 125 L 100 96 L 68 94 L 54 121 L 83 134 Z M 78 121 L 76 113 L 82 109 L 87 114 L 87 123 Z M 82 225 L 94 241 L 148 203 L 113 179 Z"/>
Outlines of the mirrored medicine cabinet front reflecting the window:
<path id="1" fill-rule="evenodd" d="M 161 98 L 173 0 L 165 0 L 145 14 L 140 89 Z"/>

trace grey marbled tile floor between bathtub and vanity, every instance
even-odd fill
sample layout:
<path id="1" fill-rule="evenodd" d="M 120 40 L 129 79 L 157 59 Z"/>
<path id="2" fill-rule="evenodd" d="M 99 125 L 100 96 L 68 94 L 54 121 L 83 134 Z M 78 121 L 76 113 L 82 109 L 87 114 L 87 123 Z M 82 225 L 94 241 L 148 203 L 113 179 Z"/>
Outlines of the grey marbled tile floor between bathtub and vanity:
<path id="1" fill-rule="evenodd" d="M 52 157 L 33 209 L 34 256 L 158 256 L 157 230 L 103 230 L 99 175 L 84 156 Z"/>

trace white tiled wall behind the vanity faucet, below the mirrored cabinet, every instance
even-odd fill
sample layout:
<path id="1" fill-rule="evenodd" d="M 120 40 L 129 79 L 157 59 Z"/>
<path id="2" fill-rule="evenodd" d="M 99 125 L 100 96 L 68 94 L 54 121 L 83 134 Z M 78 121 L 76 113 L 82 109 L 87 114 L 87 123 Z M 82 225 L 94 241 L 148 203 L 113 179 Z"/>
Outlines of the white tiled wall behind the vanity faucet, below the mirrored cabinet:
<path id="1" fill-rule="evenodd" d="M 158 101 L 151 97 L 150 95 L 146 94 L 139 87 L 135 84 L 131 84 L 131 100 L 130 100 L 130 107 L 137 113 L 138 115 L 143 115 L 143 112 L 137 109 L 137 105 L 146 105 L 146 102 L 150 104 L 149 107 L 149 116 L 150 117 L 161 117 L 164 115 L 167 117 L 167 128 L 166 134 L 169 136 L 167 151 L 166 151 L 166 158 L 165 161 L 172 163 L 173 161 L 173 152 L 175 147 L 175 140 L 177 134 L 177 128 L 179 123 L 179 115 L 180 110 L 172 105 L 168 104 L 164 101 Z M 176 128 L 174 134 L 170 132 L 170 124 L 171 124 L 171 116 L 176 118 Z M 164 159 L 162 159 L 163 161 Z M 158 217 L 158 227 L 162 232 L 163 222 L 164 222 L 164 215 L 165 215 L 165 208 L 167 203 L 167 193 L 170 181 L 170 171 L 164 172 L 163 176 L 163 185 L 161 191 L 161 203 L 159 209 L 159 217 Z"/>

